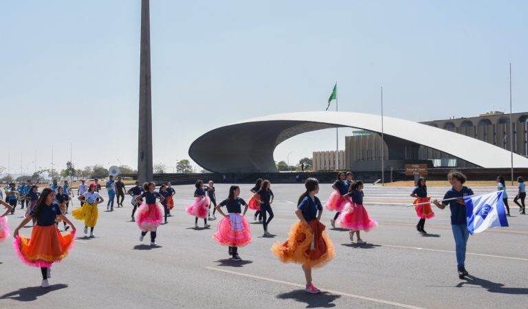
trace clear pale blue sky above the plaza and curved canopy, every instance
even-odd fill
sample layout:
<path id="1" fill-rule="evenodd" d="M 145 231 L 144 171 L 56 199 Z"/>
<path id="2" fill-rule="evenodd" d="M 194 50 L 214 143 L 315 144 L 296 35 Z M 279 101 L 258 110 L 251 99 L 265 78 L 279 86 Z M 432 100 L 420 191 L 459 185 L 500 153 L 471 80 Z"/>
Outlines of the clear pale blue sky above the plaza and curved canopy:
<path id="1" fill-rule="evenodd" d="M 230 122 L 321 111 L 416 121 L 528 110 L 525 1 L 151 1 L 154 161 Z M 0 1 L 0 165 L 137 163 L 140 0 Z M 342 135 L 350 129 L 341 130 Z M 343 139 L 341 144 L 343 143 Z M 295 163 L 333 131 L 278 146 Z"/>

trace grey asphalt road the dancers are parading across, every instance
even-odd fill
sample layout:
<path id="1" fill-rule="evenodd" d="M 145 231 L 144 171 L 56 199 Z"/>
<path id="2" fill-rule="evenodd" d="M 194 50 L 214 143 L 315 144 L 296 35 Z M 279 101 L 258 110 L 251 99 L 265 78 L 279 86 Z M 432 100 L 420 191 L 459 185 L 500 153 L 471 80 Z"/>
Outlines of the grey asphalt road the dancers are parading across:
<path id="1" fill-rule="evenodd" d="M 228 185 L 216 185 L 217 198 Z M 250 185 L 241 185 L 243 198 Z M 83 238 L 83 223 L 74 220 L 78 240 L 71 254 L 55 264 L 51 288 L 40 288 L 38 268 L 25 266 L 11 240 L 0 243 L 0 308 L 527 308 L 528 216 L 513 216 L 510 227 L 471 236 L 466 266 L 472 275 L 456 274 L 454 240 L 449 210 L 435 209 L 426 222 L 428 236 L 415 230 L 417 217 L 408 196 L 411 188 L 366 187 L 365 206 L 380 224 L 362 233 L 367 244 L 351 244 L 347 231 L 329 230 L 336 258 L 314 271 L 320 295 L 303 291 L 304 277 L 297 264 L 283 264 L 270 252 L 274 242 L 287 238 L 296 221 L 294 209 L 303 185 L 272 185 L 276 196 L 271 238 L 253 224 L 253 241 L 239 249 L 242 262 L 232 262 L 228 250 L 212 240 L 211 229 L 194 229 L 185 206 L 192 185 L 175 187 L 176 207 L 167 225 L 158 229 L 158 247 L 130 221 L 130 198 L 124 208 L 105 212 L 100 205 L 96 238 Z M 443 196 L 446 188 L 429 188 Z M 474 188 L 490 192 L 494 188 Z M 322 184 L 320 198 L 331 192 Z M 511 192 L 511 191 L 510 191 Z M 512 202 L 510 202 L 513 205 Z M 78 201 L 76 201 L 78 205 Z M 252 221 L 252 211 L 248 211 Z M 22 211 L 9 216 L 12 229 Z M 333 213 L 322 221 L 329 227 Z M 71 216 L 70 216 L 71 218 Z M 200 222 L 203 225 L 203 221 Z M 21 231 L 30 234 L 30 227 Z"/>

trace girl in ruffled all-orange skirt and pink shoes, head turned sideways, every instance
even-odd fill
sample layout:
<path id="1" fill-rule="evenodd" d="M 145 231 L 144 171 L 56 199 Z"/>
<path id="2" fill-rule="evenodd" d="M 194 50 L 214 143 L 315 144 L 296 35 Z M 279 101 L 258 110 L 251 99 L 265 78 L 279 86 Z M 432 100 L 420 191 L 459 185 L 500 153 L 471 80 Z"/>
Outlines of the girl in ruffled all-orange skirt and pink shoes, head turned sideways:
<path id="1" fill-rule="evenodd" d="M 303 267 L 306 278 L 307 293 L 320 293 L 312 284 L 311 268 L 322 267 L 333 259 L 336 251 L 325 232 L 325 225 L 320 222 L 322 205 L 316 196 L 319 182 L 309 178 L 305 183 L 306 192 L 300 196 L 295 214 L 299 218 L 289 231 L 289 239 L 281 244 L 277 242 L 272 252 L 281 262 L 298 263 Z"/>

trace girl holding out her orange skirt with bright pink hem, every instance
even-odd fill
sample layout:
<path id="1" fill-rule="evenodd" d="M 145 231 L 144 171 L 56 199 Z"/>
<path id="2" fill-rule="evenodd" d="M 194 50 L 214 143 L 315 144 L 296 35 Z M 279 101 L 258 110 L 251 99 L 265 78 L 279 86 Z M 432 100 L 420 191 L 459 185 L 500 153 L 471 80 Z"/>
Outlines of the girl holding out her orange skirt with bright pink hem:
<path id="1" fill-rule="evenodd" d="M 51 266 L 61 262 L 74 245 L 76 229 L 72 222 L 61 213 L 55 200 L 55 192 L 47 187 L 42 190 L 36 207 L 30 217 L 22 220 L 17 229 L 14 229 L 13 244 L 20 260 L 29 266 L 41 268 L 43 288 L 50 286 L 47 279 L 51 277 Z M 36 218 L 36 225 L 31 231 L 31 238 L 19 236 L 19 230 Z M 72 227 L 72 231 L 62 235 L 55 227 L 55 218 L 60 218 Z"/>

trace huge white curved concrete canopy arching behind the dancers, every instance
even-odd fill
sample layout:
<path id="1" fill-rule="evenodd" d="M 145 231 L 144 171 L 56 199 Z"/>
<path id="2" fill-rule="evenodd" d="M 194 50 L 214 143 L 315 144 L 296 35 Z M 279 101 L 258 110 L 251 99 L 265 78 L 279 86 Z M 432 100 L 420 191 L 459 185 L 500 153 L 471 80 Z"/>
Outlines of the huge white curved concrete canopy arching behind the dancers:
<path id="1" fill-rule="evenodd" d="M 192 143 L 189 155 L 214 172 L 276 171 L 273 151 L 295 135 L 336 126 L 381 133 L 380 115 L 315 111 L 248 119 L 211 130 Z M 507 168 L 510 152 L 485 141 L 404 119 L 384 117 L 384 134 L 446 152 L 482 168 Z M 514 167 L 528 159 L 514 154 Z"/>

